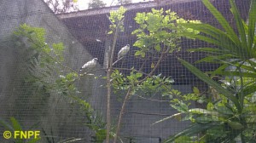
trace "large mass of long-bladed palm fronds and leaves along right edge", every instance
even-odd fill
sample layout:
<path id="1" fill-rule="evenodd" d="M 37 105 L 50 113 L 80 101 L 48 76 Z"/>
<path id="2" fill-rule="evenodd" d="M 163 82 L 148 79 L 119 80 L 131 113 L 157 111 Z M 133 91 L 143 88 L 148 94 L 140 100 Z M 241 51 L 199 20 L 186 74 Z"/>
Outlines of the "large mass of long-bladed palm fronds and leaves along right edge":
<path id="1" fill-rule="evenodd" d="M 189 115 L 192 125 L 183 131 L 174 134 L 166 142 L 183 140 L 191 142 L 232 142 L 237 138 L 241 142 L 252 142 L 255 140 L 255 24 L 256 24 L 256 2 L 251 1 L 251 9 L 247 17 L 247 23 L 241 19 L 233 0 L 230 0 L 231 12 L 236 22 L 236 30 L 224 19 L 212 3 L 202 0 L 207 9 L 218 20 L 224 31 L 208 24 L 179 24 L 185 28 L 201 31 L 201 34 L 180 33 L 183 37 L 197 38 L 207 43 L 212 43 L 216 48 L 189 49 L 190 52 L 206 52 L 208 56 L 198 62 L 219 63 L 221 66 L 213 72 L 212 76 L 223 76 L 225 80 L 216 83 L 207 74 L 198 70 L 185 60 L 178 59 L 183 66 L 194 73 L 203 82 L 207 83 L 215 92 L 207 101 L 207 109 L 186 108 L 172 117 L 181 113 Z M 232 67 L 231 70 L 227 69 Z M 179 107 L 182 107 L 179 105 Z M 163 121 L 163 120 L 161 120 Z M 198 135 L 200 134 L 200 135 Z"/>

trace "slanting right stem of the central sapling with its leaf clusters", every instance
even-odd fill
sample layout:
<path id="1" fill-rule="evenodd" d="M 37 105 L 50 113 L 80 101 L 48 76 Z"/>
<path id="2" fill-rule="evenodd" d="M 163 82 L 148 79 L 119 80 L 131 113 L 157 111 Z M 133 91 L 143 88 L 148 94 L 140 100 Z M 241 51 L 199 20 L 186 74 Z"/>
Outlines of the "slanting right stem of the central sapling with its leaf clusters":
<path id="1" fill-rule="evenodd" d="M 166 15 L 165 15 L 166 14 Z M 135 53 L 137 58 L 143 60 L 143 65 L 137 70 L 135 68 L 125 69 L 125 68 L 113 68 L 115 69 L 112 72 L 112 87 L 115 91 L 120 89 L 127 90 L 125 94 L 125 98 L 123 100 L 123 104 L 121 110 L 119 112 L 119 121 L 116 129 L 116 134 L 114 136 L 114 143 L 117 141 L 117 137 L 119 135 L 120 123 L 122 120 L 122 116 L 125 113 L 125 103 L 127 100 L 131 98 L 132 94 L 135 94 L 138 90 L 146 89 L 149 85 L 148 83 L 152 80 L 156 83 L 156 79 L 160 80 L 157 83 L 157 86 L 150 86 L 151 88 L 159 88 L 160 89 L 169 89 L 166 88 L 166 83 L 173 83 L 170 80 L 164 81 L 165 77 L 156 77 L 154 76 L 154 72 L 160 66 L 161 61 L 164 59 L 166 54 L 172 54 L 174 51 L 179 51 L 179 40 L 180 36 L 176 36 L 176 33 L 181 31 L 187 31 L 191 34 L 197 34 L 199 31 L 194 31 L 193 29 L 185 29 L 183 26 L 177 26 L 174 24 L 175 22 L 182 23 L 198 23 L 199 21 L 188 21 L 178 18 L 177 14 L 171 12 L 171 10 L 166 10 L 164 14 L 163 9 L 156 10 L 152 9 L 151 13 L 138 13 L 135 18 L 137 24 L 139 24 L 139 28 L 132 32 L 132 34 L 137 35 L 137 42 L 133 44 L 133 46 L 139 48 Z M 110 26 L 116 27 L 116 26 Z M 122 27 L 120 27 L 121 29 Z M 112 33 L 113 31 L 111 31 Z M 150 59 L 151 55 L 159 55 L 157 57 L 157 61 L 154 67 L 147 73 L 143 72 L 144 64 L 148 59 Z M 118 60 L 117 60 L 118 61 Z M 117 62 L 116 61 L 116 62 Z M 114 63 L 116 63 L 114 62 Z M 120 71 L 131 71 L 130 75 L 123 75 Z M 144 75 L 144 76 L 143 76 Z M 110 78 L 108 78 L 110 79 Z M 161 85 L 163 83 L 163 85 Z M 167 92 L 167 91 L 165 91 Z"/>

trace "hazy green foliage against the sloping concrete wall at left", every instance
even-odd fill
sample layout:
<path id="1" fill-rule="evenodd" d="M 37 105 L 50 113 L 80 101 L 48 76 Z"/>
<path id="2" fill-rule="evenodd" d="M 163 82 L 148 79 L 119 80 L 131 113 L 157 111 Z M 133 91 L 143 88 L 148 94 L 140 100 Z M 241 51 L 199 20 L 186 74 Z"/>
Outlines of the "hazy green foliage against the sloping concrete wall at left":
<path id="1" fill-rule="evenodd" d="M 15 47 L 21 51 L 24 57 L 25 65 L 22 65 L 22 68 L 27 72 L 24 77 L 26 82 L 49 92 L 49 90 L 60 87 L 56 83 L 60 83 L 63 77 L 70 82 L 73 78 L 78 77 L 73 69 L 62 64 L 64 60 L 63 43 L 53 43 L 50 46 L 45 42 L 44 28 L 23 24 L 14 31 L 13 38 L 16 41 Z M 65 70 L 71 73 L 63 76 Z M 63 80 L 61 81 L 63 83 Z"/>

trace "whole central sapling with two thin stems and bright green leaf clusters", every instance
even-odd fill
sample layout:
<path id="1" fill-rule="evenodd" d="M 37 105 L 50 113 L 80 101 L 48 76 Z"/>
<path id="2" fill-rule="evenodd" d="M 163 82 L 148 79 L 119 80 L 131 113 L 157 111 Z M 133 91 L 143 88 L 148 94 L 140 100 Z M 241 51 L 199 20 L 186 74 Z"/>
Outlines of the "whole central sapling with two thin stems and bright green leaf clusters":
<path id="1" fill-rule="evenodd" d="M 110 31 L 108 34 L 113 34 L 113 46 L 108 51 L 108 73 L 107 73 L 107 88 L 108 88 L 108 116 L 107 116 L 107 142 L 109 142 L 109 128 L 110 128 L 110 93 L 113 88 L 114 93 L 125 94 L 123 97 L 123 104 L 119 112 L 119 119 L 117 123 L 116 132 L 114 134 L 113 142 L 116 142 L 119 138 L 119 129 L 121 126 L 121 120 L 125 113 L 125 104 L 132 95 L 139 93 L 140 91 L 148 91 L 148 94 L 155 94 L 156 92 L 167 93 L 172 83 L 174 82 L 171 77 L 162 77 L 161 75 L 154 75 L 156 69 L 160 66 L 160 62 L 164 59 L 166 54 L 172 54 L 174 51 L 179 50 L 180 36 L 176 36 L 175 33 L 181 31 L 188 31 L 191 33 L 198 33 L 193 29 L 184 29 L 183 26 L 177 26 L 174 23 L 196 23 L 200 21 L 196 20 L 183 20 L 178 18 L 177 14 L 171 12 L 171 10 L 152 9 L 150 13 L 138 13 L 135 18 L 139 28 L 132 32 L 137 35 L 137 42 L 133 44 L 138 50 L 135 56 L 143 60 L 143 65 L 138 69 L 132 67 L 118 68 L 113 67 L 119 60 L 123 60 L 123 57 L 113 62 L 113 54 L 116 45 L 116 41 L 119 37 L 119 32 L 124 31 L 124 14 L 125 9 L 120 7 L 118 11 L 110 12 L 109 20 L 112 25 L 109 26 Z M 166 15 L 164 15 L 166 14 Z M 157 24 L 157 25 L 155 25 Z M 151 69 L 148 72 L 145 70 L 144 64 L 154 57 L 154 61 L 151 64 Z M 128 71 L 128 74 L 123 74 L 123 71 Z M 121 91 L 121 92 L 119 92 Z M 125 93 L 124 93 L 125 91 Z"/>

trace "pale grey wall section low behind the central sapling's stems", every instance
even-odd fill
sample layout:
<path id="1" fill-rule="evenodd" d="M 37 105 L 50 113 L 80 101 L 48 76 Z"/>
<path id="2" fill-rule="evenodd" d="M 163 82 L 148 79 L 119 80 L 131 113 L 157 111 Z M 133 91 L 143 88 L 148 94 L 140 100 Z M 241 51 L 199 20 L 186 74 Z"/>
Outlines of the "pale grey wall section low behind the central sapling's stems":
<path id="1" fill-rule="evenodd" d="M 192 92 L 191 85 L 174 85 L 172 88 L 183 94 Z M 189 126 L 189 122 L 179 122 L 175 118 L 153 125 L 177 112 L 170 106 L 168 98 L 163 98 L 160 94 L 147 98 L 149 100 L 133 96 L 127 104 L 124 126 L 121 129 L 124 135 L 134 137 L 139 143 L 160 143 L 160 140 L 163 141 Z"/>

